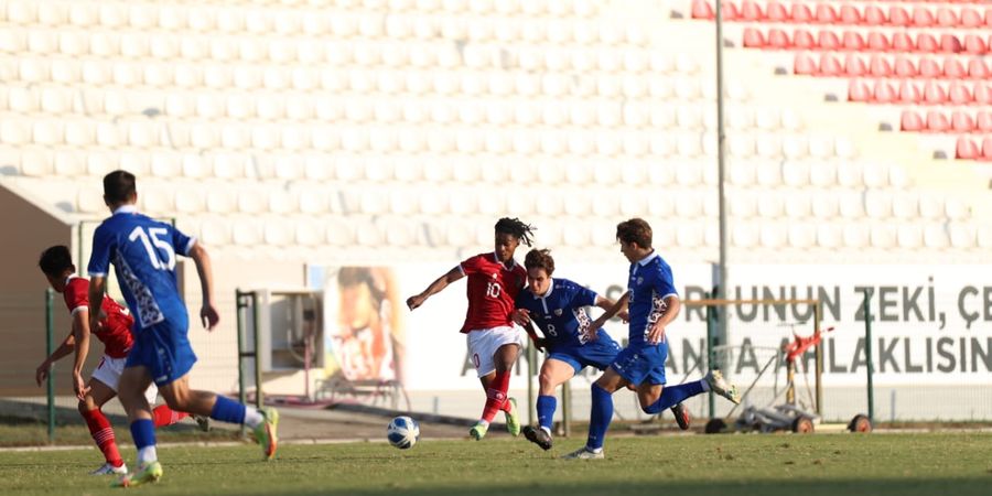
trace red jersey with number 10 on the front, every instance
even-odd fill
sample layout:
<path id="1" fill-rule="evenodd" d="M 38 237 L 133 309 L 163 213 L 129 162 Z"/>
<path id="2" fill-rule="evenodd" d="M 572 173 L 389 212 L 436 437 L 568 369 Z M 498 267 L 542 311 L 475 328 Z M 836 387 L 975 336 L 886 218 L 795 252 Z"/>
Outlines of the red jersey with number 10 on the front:
<path id="1" fill-rule="evenodd" d="M 527 270 L 510 260 L 506 268 L 496 254 L 481 254 L 463 261 L 459 268 L 468 277 L 466 294 L 468 312 L 462 332 L 514 325 L 510 313 L 517 293 L 527 283 Z"/>

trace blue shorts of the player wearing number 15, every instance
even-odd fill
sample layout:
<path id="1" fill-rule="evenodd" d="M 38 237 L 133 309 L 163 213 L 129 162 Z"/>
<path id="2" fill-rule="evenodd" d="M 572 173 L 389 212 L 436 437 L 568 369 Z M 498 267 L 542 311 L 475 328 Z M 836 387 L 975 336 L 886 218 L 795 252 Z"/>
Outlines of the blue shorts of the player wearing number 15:
<path id="1" fill-rule="evenodd" d="M 185 320 L 183 320 L 185 321 Z M 128 353 L 127 367 L 145 367 L 155 386 L 162 387 L 185 376 L 196 363 L 196 354 L 186 336 L 186 322 L 163 321 L 133 330 L 134 345 Z"/>

